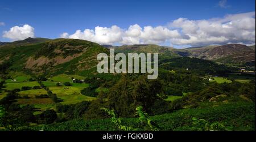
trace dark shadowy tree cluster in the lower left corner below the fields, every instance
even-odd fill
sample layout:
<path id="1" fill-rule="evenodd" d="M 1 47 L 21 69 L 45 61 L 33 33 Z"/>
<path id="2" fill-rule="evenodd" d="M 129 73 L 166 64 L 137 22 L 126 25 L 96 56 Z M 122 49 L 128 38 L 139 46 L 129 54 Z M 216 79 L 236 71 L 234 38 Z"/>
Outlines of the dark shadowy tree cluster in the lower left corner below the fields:
<path id="1" fill-rule="evenodd" d="M 28 126 L 29 123 L 53 123 L 57 119 L 54 110 L 46 110 L 42 114 L 34 115 L 36 108 L 34 105 L 15 104 L 19 95 L 16 91 L 10 91 L 0 100 L 0 106 L 5 110 L 5 115 L 1 118 L 0 127 L 21 127 Z"/>

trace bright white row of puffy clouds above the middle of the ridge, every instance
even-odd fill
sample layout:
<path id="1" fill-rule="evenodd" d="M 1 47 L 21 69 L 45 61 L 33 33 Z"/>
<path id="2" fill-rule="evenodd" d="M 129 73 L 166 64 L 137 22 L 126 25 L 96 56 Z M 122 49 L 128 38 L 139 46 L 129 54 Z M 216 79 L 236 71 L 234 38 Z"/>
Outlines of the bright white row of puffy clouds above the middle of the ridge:
<path id="1" fill-rule="evenodd" d="M 170 30 L 166 27 L 146 26 L 141 28 L 138 24 L 131 25 L 127 30 L 113 25 L 110 28 L 96 27 L 93 29 L 77 30 L 72 35 L 64 32 L 61 34 L 63 38 L 76 38 L 97 42 L 98 44 L 114 44 L 121 43 L 131 44 L 159 44 L 170 38 L 180 37 L 177 30 Z"/>

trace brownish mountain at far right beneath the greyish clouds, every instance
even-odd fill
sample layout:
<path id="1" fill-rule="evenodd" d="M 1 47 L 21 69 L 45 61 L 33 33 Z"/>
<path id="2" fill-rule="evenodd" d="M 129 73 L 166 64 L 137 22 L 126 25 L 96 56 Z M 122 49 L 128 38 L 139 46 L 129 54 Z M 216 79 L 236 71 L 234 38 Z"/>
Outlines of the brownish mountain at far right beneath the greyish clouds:
<path id="1" fill-rule="evenodd" d="M 212 45 L 174 51 L 183 57 L 196 57 L 225 64 L 244 64 L 255 61 L 255 50 L 241 44 Z"/>

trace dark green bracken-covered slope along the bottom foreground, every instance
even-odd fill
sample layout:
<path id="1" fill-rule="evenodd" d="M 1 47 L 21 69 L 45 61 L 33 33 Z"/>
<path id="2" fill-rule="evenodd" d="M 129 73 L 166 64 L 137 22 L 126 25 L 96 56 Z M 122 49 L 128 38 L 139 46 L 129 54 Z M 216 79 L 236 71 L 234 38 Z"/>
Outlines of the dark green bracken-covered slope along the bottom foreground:
<path id="1" fill-rule="evenodd" d="M 213 106 L 213 104 L 209 105 Z M 201 118 L 205 121 L 213 123 L 220 120 L 224 123 L 226 130 L 254 130 L 253 121 L 255 119 L 255 111 L 253 110 L 255 105 L 246 102 L 240 102 L 239 104 L 222 104 L 215 107 L 197 108 L 197 109 L 183 109 L 174 113 L 155 115 L 150 117 L 152 121 L 157 123 L 160 130 L 200 130 L 200 127 L 195 128 L 195 122 L 192 118 Z M 218 115 L 211 115 L 218 114 Z M 241 118 L 241 115 L 246 114 Z M 145 130 L 144 127 L 138 127 L 138 118 L 122 118 L 122 124 L 138 128 L 138 130 Z M 164 120 L 164 121 L 163 121 Z M 44 127 L 36 126 L 30 128 L 24 128 L 24 130 L 42 130 L 45 131 L 117 131 L 117 126 L 111 123 L 110 119 L 96 119 L 96 120 L 73 120 L 63 123 L 49 124 Z M 201 126 L 203 128 L 203 126 Z"/>

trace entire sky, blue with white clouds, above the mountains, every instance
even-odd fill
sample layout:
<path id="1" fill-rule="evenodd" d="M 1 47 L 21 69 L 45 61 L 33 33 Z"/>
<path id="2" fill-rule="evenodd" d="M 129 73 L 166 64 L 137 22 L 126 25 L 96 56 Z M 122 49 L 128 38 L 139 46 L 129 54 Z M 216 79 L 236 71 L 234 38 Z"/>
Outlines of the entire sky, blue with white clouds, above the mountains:
<path id="1" fill-rule="evenodd" d="M 1 0 L 0 41 L 27 37 L 176 48 L 255 45 L 255 0 Z"/>

